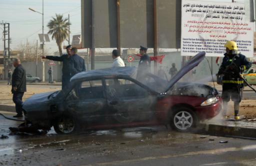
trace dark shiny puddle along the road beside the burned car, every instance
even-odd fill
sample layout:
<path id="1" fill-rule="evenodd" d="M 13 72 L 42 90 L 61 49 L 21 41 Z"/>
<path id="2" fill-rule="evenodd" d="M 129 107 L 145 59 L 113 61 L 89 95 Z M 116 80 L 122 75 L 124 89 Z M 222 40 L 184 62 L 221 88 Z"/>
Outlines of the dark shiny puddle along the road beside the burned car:
<path id="1" fill-rule="evenodd" d="M 8 135 L 6 132 L 5 134 Z M 85 146 L 100 145 L 106 142 L 139 141 L 162 136 L 168 137 L 168 132 L 164 127 L 86 131 L 73 135 L 57 135 L 54 130 L 50 130 L 46 135 L 39 136 L 8 135 L 9 139 L 0 140 L 0 156 L 25 153 L 31 149 L 43 147 L 49 147 L 54 150 L 59 148 L 69 148 L 76 144 Z"/>

